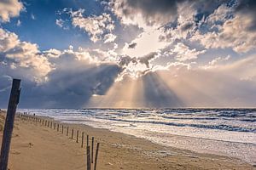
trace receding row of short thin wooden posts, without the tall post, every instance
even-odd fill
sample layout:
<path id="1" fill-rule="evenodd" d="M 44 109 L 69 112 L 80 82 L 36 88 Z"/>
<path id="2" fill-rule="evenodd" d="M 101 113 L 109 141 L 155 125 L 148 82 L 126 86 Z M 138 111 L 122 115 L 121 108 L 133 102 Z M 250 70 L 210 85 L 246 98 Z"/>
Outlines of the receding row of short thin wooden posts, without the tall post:
<path id="1" fill-rule="evenodd" d="M 86 169 L 96 170 L 100 143 L 99 142 L 95 143 L 94 136 L 91 136 L 90 138 L 90 135 L 86 134 L 84 131 L 81 132 L 80 128 L 75 129 L 74 127 L 70 127 L 70 125 L 67 123 L 56 122 L 55 120 L 46 116 L 30 115 L 27 112 L 19 114 L 18 116 L 22 121 L 31 122 L 34 125 L 43 126 L 43 127 L 52 129 L 56 133 L 61 133 L 63 135 L 66 135 L 68 139 L 73 140 L 75 143 L 81 143 L 80 147 L 82 149 L 84 149 L 84 146 L 85 146 Z M 60 127 L 61 127 L 61 130 L 60 130 Z M 70 129 L 72 129 L 71 134 L 69 133 Z M 66 133 L 65 133 L 65 130 L 66 130 Z M 81 138 L 79 138 L 79 134 Z M 85 135 L 86 135 L 86 145 L 84 144 Z"/>

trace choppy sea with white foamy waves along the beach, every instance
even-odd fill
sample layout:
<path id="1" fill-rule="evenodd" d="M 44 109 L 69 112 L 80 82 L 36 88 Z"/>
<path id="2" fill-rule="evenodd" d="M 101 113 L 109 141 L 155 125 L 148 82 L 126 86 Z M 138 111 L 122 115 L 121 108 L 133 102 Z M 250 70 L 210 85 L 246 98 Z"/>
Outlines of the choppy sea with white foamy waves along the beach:
<path id="1" fill-rule="evenodd" d="M 22 109 L 256 165 L 256 109 Z"/>

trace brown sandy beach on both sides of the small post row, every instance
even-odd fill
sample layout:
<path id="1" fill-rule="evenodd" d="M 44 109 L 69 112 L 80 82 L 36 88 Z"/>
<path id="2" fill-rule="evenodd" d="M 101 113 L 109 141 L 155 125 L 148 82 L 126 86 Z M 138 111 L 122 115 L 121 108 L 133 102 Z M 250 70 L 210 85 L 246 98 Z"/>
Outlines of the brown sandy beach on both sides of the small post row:
<path id="1" fill-rule="evenodd" d="M 3 122 L 3 113 L 0 123 Z M 35 122 L 15 119 L 9 169 L 79 170 L 86 169 L 85 147 L 66 136 L 66 127 L 94 136 L 100 142 L 97 169 L 255 169 L 252 165 L 225 156 L 198 154 L 189 150 L 153 144 L 124 133 L 85 125 L 63 124 L 64 134 Z M 1 129 L 1 127 L 0 127 Z M 60 128 L 61 129 L 61 128 Z M 0 132 L 2 140 L 3 131 Z M 86 138 L 84 138 L 86 142 Z M 0 141 L 1 142 L 1 141 Z"/>

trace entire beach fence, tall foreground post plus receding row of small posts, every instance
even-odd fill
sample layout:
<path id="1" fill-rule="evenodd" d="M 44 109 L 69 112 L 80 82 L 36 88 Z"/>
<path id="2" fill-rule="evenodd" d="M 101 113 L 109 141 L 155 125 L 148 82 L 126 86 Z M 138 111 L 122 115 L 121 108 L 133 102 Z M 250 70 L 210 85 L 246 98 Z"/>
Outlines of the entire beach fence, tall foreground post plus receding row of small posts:
<path id="1" fill-rule="evenodd" d="M 16 108 L 20 101 L 20 82 L 21 81 L 19 79 L 14 79 L 12 88 L 11 88 L 9 105 L 8 105 L 8 110 L 5 118 L 4 129 L 3 129 L 3 141 L 2 141 L 1 156 L 0 156 L 0 170 L 8 169 L 10 141 L 11 141 L 11 136 L 12 136 L 14 123 L 15 123 Z M 69 125 L 66 123 L 64 124 L 61 122 L 56 122 L 53 119 L 50 119 L 49 117 L 46 117 L 46 116 L 36 116 L 35 114 L 30 115 L 30 114 L 27 114 L 27 112 L 20 113 L 18 114 L 18 116 L 21 121 L 30 122 L 31 124 L 36 126 L 43 126 L 56 131 L 56 133 L 61 133 L 63 135 L 65 135 L 64 131 L 66 129 L 67 138 L 73 140 L 75 129 L 72 127 L 72 133 L 71 133 L 72 136 L 69 137 L 68 131 L 69 129 L 71 129 L 71 127 L 69 127 Z M 79 132 L 79 130 L 80 129 L 76 129 L 75 142 L 79 143 L 80 141 L 81 142 L 80 147 L 82 149 L 84 149 L 84 146 L 85 146 L 84 151 L 86 156 L 86 169 L 96 170 L 100 143 L 96 142 L 96 152 L 94 152 L 95 138 L 93 136 L 91 137 L 91 144 L 90 144 L 89 134 L 84 133 L 84 131 Z M 81 134 L 80 140 L 79 140 L 79 134 Z M 86 135 L 86 145 L 84 144 L 85 135 Z M 95 153 L 95 156 L 94 156 L 94 153 Z"/>

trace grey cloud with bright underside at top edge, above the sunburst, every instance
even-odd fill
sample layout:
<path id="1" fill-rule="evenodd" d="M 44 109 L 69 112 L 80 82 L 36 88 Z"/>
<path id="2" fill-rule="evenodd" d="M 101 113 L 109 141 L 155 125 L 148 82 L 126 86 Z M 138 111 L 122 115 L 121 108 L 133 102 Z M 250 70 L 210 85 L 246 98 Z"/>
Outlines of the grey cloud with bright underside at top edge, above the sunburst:
<path id="1" fill-rule="evenodd" d="M 123 24 L 138 26 L 164 25 L 177 17 L 177 0 L 113 0 L 110 4 L 113 13 Z"/>

